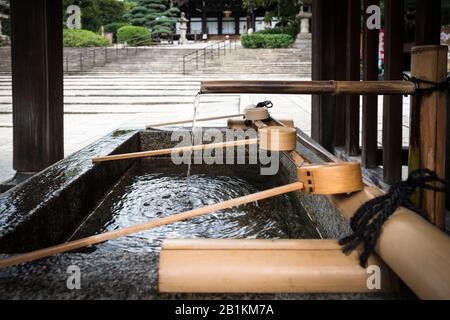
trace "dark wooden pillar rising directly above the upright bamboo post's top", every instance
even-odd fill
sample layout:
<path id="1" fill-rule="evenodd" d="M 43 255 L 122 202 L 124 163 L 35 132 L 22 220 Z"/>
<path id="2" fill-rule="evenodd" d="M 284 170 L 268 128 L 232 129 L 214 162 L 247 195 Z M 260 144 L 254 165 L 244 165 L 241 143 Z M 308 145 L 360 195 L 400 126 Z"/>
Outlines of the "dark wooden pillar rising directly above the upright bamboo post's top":
<path id="1" fill-rule="evenodd" d="M 417 0 L 416 45 L 441 44 L 441 0 Z"/>

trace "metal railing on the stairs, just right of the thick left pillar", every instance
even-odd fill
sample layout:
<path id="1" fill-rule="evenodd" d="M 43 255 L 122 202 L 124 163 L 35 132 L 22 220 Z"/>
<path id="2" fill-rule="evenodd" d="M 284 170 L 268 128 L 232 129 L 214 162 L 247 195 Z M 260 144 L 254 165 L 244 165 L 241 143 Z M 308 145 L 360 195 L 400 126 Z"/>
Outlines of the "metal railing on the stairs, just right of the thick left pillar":
<path id="1" fill-rule="evenodd" d="M 135 37 L 128 43 L 117 43 L 113 46 L 102 46 L 96 48 L 83 48 L 81 52 L 64 56 L 64 72 L 83 72 L 93 69 L 97 66 L 104 66 L 108 62 L 116 61 L 121 57 L 136 55 L 142 43 L 148 42 L 148 37 Z M 74 62 L 74 63 L 73 63 Z"/>

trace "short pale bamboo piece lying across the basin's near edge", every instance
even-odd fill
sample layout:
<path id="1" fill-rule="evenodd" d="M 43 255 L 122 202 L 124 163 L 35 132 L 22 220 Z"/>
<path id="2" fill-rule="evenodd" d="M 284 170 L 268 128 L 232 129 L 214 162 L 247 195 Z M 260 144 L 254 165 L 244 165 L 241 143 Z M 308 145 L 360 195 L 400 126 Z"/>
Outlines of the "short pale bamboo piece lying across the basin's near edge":
<path id="1" fill-rule="evenodd" d="M 380 289 L 357 253 L 335 240 L 165 240 L 158 269 L 161 293 L 380 293 L 398 289 L 396 276 L 376 256 Z M 180 269 L 180 266 L 183 266 Z"/>

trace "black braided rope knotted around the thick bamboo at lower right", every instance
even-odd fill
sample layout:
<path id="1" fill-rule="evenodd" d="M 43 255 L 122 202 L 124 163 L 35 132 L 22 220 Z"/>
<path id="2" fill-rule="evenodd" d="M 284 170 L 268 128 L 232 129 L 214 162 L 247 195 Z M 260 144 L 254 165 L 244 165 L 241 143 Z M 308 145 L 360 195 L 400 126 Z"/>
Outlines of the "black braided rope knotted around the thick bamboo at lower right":
<path id="1" fill-rule="evenodd" d="M 437 184 L 443 186 L 436 186 Z M 350 254 L 362 245 L 363 251 L 359 255 L 359 262 L 361 267 L 366 268 L 383 223 L 401 206 L 425 217 L 414 207 L 410 197 L 418 188 L 445 192 L 445 184 L 446 181 L 440 179 L 434 171 L 419 169 L 412 172 L 406 181 L 392 185 L 387 194 L 368 201 L 358 209 L 350 221 L 353 234 L 339 241 L 343 246 L 342 251 Z"/>

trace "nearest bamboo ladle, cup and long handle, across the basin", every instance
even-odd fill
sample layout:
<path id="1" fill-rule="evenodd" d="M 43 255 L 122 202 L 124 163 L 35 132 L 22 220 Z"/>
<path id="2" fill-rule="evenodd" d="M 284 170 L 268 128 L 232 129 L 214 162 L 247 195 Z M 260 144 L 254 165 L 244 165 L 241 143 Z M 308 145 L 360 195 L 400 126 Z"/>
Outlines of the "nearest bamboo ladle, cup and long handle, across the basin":
<path id="1" fill-rule="evenodd" d="M 149 222 L 137 224 L 128 228 L 106 232 L 103 234 L 74 240 L 49 248 L 19 254 L 7 259 L 3 259 L 0 260 L 0 268 L 27 263 L 55 254 L 73 251 L 108 240 L 157 228 L 163 225 L 192 219 L 194 217 L 203 216 L 212 212 L 272 198 L 275 196 L 280 196 L 294 191 L 303 191 L 310 194 L 328 195 L 350 193 L 359 191 L 363 188 L 361 168 L 359 163 L 335 163 L 317 166 L 304 166 L 301 168 L 297 168 L 297 175 L 299 181 L 285 186 L 224 201 L 211 206 L 186 211 L 170 217 L 151 220 Z"/>

